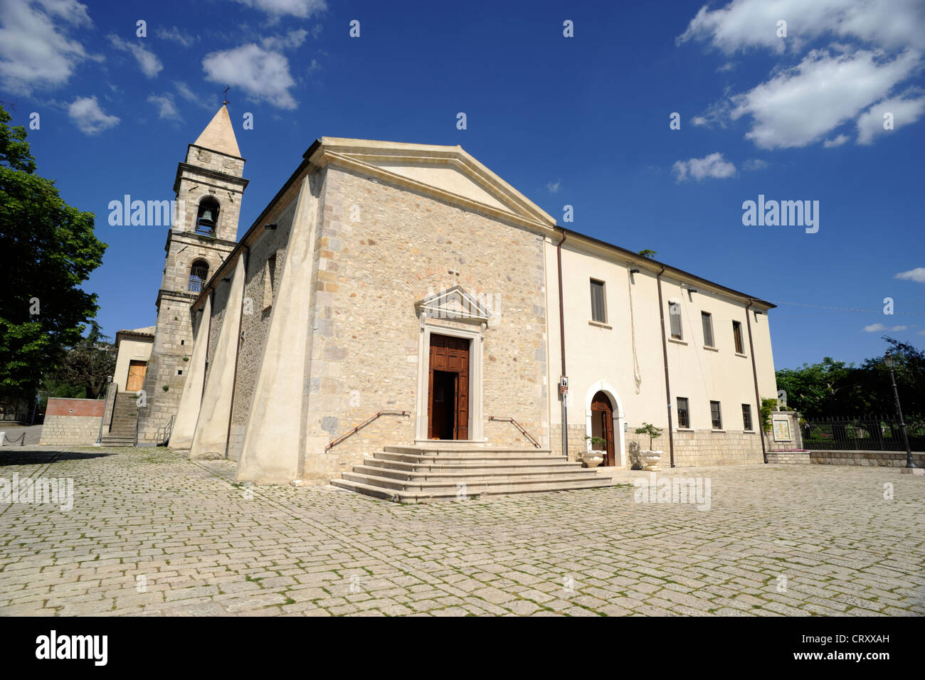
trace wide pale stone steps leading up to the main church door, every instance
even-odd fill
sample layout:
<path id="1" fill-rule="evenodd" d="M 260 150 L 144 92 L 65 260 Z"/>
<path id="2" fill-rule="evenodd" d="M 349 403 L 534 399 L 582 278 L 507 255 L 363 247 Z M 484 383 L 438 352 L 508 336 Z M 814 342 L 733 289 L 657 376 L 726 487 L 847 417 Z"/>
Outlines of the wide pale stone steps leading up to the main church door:
<path id="1" fill-rule="evenodd" d="M 467 497 L 570 488 L 609 487 L 609 476 L 566 461 L 549 449 L 502 449 L 450 442 L 387 446 L 335 487 L 396 502 L 453 501 Z M 464 484 L 465 489 L 457 485 Z"/>

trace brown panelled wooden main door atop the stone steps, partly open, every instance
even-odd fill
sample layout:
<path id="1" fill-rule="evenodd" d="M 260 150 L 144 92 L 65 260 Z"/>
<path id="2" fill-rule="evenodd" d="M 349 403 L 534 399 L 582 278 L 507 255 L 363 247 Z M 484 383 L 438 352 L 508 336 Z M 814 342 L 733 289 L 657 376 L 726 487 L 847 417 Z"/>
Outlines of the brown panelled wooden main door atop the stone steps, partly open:
<path id="1" fill-rule="evenodd" d="M 430 336 L 427 439 L 469 439 L 469 340 Z"/>

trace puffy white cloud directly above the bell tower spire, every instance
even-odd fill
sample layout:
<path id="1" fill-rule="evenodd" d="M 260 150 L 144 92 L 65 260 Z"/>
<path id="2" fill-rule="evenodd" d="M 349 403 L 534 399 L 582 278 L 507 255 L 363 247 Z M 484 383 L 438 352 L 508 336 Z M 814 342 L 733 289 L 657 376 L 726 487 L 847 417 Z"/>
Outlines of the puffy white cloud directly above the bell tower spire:
<path id="1" fill-rule="evenodd" d="M 206 79 L 240 87 L 258 101 L 286 109 L 298 106 L 289 92 L 295 85 L 289 60 L 277 52 L 245 44 L 205 56 L 203 69 Z"/>

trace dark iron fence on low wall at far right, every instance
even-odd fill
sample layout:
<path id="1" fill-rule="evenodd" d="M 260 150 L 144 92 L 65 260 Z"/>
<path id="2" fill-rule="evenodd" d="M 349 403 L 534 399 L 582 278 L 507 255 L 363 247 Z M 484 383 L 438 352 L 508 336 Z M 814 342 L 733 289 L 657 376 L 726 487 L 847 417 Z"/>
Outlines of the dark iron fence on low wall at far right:
<path id="1" fill-rule="evenodd" d="M 808 418 L 800 421 L 803 447 L 816 451 L 906 451 L 895 415 Z M 925 451 L 925 418 L 906 417 L 912 451 Z"/>

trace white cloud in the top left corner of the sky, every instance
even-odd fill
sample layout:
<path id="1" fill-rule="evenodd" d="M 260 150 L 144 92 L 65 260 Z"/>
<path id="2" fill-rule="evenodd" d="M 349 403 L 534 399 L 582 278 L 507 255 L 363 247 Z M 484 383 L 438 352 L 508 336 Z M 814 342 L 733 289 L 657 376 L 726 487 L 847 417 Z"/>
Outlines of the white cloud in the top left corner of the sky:
<path id="1" fill-rule="evenodd" d="M 56 23 L 57 22 L 57 23 Z M 60 23 L 68 24 L 63 28 Z M 92 26 L 87 6 L 75 0 L 0 2 L 0 84 L 13 93 L 62 85 L 87 53 L 68 37 Z"/>

